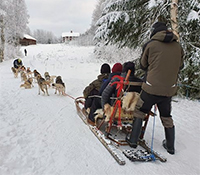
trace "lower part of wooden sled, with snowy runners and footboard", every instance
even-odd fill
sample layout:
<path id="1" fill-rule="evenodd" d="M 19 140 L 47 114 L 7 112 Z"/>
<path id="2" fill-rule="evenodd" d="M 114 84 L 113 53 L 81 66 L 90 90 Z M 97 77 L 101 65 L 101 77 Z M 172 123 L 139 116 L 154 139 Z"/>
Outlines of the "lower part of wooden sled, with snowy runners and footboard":
<path id="1" fill-rule="evenodd" d="M 75 99 L 75 105 L 77 109 L 78 116 L 83 120 L 83 122 L 89 127 L 92 133 L 98 138 L 98 140 L 105 146 L 108 152 L 113 156 L 113 158 L 120 164 L 125 165 L 126 159 L 130 161 L 154 161 L 160 160 L 161 162 L 166 162 L 167 159 L 152 150 L 151 147 L 143 139 L 148 118 L 144 120 L 142 127 L 142 132 L 140 135 L 140 140 L 137 149 L 132 149 L 128 146 L 125 141 L 126 134 L 131 131 L 130 124 L 124 123 L 122 120 L 122 127 L 119 128 L 116 121 L 113 120 L 112 129 L 108 132 L 108 123 L 100 122 L 101 126 L 92 126 L 87 123 L 87 111 L 84 109 L 85 99 L 83 97 L 78 97 Z M 103 120 L 103 119 L 102 119 Z"/>

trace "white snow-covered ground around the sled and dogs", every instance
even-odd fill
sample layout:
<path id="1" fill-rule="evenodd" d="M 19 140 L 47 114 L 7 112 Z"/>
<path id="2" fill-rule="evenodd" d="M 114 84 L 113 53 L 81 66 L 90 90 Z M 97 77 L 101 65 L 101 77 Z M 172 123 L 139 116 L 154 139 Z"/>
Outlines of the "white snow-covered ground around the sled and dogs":
<path id="1" fill-rule="evenodd" d="M 24 47 L 22 48 L 23 51 Z M 93 47 L 64 44 L 26 47 L 23 63 L 41 74 L 60 75 L 67 94 L 76 98 L 99 74 L 103 63 Z M 38 86 L 20 88 L 11 72 L 13 60 L 0 63 L 0 174 L 1 175 L 199 175 L 200 103 L 175 97 L 176 154 L 161 146 L 164 130 L 156 117 L 154 149 L 166 163 L 130 162 L 120 166 L 76 114 L 74 100 L 54 94 L 38 95 Z M 111 65 L 112 66 L 112 65 Z M 150 143 L 151 119 L 145 139 Z"/>

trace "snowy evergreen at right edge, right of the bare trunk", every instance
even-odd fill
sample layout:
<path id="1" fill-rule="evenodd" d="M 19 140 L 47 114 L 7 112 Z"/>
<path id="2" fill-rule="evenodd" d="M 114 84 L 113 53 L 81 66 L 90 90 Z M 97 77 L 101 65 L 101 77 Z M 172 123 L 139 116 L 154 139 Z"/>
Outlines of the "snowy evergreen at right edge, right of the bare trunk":
<path id="1" fill-rule="evenodd" d="M 200 2 L 179 1 L 179 34 L 185 51 L 185 67 L 180 74 L 180 92 L 200 98 Z"/>

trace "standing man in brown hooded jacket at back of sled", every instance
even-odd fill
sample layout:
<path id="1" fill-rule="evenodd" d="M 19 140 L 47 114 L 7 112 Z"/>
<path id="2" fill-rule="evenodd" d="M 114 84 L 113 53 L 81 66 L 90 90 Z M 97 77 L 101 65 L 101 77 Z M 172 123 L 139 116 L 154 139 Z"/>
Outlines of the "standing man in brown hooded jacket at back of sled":
<path id="1" fill-rule="evenodd" d="M 146 76 L 133 114 L 132 132 L 130 137 L 126 138 L 133 148 L 137 147 L 143 119 L 152 106 L 157 105 L 165 130 L 163 147 L 168 153 L 175 154 L 171 98 L 177 91 L 178 73 L 184 66 L 183 49 L 177 39 L 165 23 L 156 22 L 152 27 L 150 41 L 143 46 L 140 64 Z"/>

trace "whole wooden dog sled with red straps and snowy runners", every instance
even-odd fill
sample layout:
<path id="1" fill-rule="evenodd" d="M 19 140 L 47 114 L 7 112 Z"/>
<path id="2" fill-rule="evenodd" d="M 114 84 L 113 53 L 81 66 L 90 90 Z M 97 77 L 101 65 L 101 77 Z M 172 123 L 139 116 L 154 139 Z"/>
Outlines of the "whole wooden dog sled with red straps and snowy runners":
<path id="1" fill-rule="evenodd" d="M 95 126 L 87 122 L 88 113 L 84 108 L 84 97 L 75 99 L 77 114 L 120 165 L 125 165 L 127 158 L 131 161 L 146 162 L 160 160 L 161 162 L 166 162 L 167 159 L 154 151 L 144 140 L 149 117 L 155 116 L 153 112 L 147 114 L 143 121 L 137 149 L 132 149 L 128 145 L 125 138 L 132 130 L 133 111 L 126 111 L 121 108 L 123 105 L 121 104 L 120 95 L 113 105 L 111 116 L 109 118 L 103 116 L 96 119 Z"/>

